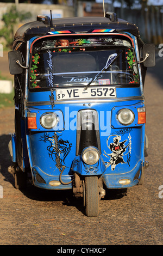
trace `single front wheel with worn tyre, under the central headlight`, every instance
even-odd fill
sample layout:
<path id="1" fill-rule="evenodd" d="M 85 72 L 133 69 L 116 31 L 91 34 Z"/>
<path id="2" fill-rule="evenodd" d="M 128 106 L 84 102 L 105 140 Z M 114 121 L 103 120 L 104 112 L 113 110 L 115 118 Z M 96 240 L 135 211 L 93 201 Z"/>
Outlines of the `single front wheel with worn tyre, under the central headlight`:
<path id="1" fill-rule="evenodd" d="M 97 176 L 86 176 L 84 180 L 84 206 L 88 217 L 96 217 L 99 213 L 99 186 Z"/>

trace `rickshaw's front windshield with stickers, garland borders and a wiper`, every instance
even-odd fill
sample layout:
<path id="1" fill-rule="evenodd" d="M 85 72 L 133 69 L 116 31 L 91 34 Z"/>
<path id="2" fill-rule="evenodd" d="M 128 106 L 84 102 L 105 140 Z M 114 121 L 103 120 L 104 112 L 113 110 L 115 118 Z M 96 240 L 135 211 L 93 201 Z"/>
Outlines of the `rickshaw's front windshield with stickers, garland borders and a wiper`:
<path id="1" fill-rule="evenodd" d="M 33 45 L 30 88 L 87 86 L 91 81 L 90 86 L 138 86 L 135 53 L 126 36 L 60 38 Z M 116 58 L 104 69 L 111 54 Z"/>

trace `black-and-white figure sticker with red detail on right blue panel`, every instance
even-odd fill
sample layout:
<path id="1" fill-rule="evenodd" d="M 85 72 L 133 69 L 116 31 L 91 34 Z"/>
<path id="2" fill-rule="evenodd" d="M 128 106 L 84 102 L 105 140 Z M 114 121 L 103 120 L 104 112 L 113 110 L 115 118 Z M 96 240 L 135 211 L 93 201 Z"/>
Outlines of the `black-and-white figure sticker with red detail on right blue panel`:
<path id="1" fill-rule="evenodd" d="M 112 138 L 113 137 L 113 138 Z M 109 144 L 110 143 L 110 144 Z M 121 142 L 120 135 L 110 135 L 106 140 L 106 144 L 111 151 L 110 154 L 107 154 L 104 150 L 104 156 L 109 158 L 108 162 L 105 162 L 106 168 L 111 165 L 111 170 L 115 170 L 118 163 L 128 164 L 130 166 L 130 156 L 131 156 L 131 136 L 129 134 L 128 139 Z M 124 156 L 126 161 L 124 161 Z"/>

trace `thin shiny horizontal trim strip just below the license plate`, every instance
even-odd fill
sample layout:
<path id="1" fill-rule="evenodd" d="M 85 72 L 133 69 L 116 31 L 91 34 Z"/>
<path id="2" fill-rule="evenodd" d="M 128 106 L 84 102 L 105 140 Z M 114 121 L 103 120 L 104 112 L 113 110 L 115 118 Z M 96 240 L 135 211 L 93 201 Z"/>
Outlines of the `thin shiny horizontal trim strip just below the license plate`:
<path id="1" fill-rule="evenodd" d="M 122 97 L 116 99 L 90 99 L 90 100 L 65 100 L 65 101 L 55 101 L 57 104 L 72 104 L 72 103 L 106 103 L 106 102 L 119 102 L 119 101 L 129 101 L 129 100 L 144 100 L 143 96 L 133 96 L 133 97 Z M 27 101 L 26 106 L 40 106 L 40 105 L 51 105 L 50 101 Z"/>

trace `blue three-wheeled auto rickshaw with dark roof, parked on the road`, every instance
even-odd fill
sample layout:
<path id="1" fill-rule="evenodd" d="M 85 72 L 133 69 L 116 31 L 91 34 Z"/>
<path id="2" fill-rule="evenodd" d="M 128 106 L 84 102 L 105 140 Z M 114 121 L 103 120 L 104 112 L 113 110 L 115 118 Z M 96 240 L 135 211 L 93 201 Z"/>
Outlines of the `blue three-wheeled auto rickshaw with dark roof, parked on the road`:
<path id="1" fill-rule="evenodd" d="M 24 188 L 31 172 L 36 187 L 82 197 L 86 216 L 93 217 L 107 189 L 142 184 L 143 85 L 154 65 L 154 45 L 115 13 L 37 16 L 20 27 L 9 52 L 15 187 Z"/>

